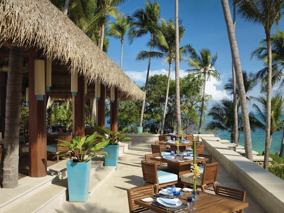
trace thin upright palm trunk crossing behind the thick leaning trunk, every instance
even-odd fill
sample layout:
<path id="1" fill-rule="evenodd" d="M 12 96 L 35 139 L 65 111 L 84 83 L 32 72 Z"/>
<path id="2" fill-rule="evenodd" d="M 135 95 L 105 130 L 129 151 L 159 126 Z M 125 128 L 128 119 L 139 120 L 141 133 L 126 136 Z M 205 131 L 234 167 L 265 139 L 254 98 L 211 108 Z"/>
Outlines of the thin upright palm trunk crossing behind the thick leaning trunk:
<path id="1" fill-rule="evenodd" d="M 236 5 L 234 4 L 233 9 L 233 25 L 234 30 L 236 29 Z M 233 128 L 233 140 L 231 140 L 231 143 L 237 142 L 238 138 L 238 106 L 237 106 L 237 86 L 236 86 L 236 72 L 234 68 L 234 63 L 232 59 L 232 80 L 233 80 L 233 109 L 234 109 L 234 128 Z"/>

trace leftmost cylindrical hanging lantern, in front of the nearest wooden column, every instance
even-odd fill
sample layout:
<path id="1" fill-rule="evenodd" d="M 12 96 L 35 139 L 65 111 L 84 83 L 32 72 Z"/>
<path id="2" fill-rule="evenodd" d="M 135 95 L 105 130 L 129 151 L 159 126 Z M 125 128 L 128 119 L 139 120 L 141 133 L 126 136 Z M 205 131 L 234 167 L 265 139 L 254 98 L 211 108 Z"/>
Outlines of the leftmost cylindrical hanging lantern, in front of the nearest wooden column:
<path id="1" fill-rule="evenodd" d="M 44 60 L 34 60 L 34 95 L 37 101 L 43 101 L 45 95 Z"/>

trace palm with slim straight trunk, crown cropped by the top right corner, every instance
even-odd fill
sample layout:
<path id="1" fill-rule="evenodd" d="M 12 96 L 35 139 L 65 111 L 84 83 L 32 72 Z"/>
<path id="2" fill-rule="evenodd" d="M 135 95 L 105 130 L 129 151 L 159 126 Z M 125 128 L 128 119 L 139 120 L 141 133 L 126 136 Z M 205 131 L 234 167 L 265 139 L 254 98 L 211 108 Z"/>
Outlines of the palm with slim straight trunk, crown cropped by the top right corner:
<path id="1" fill-rule="evenodd" d="M 238 13 L 255 23 L 264 27 L 267 45 L 267 76 L 266 76 L 266 133 L 264 150 L 264 168 L 269 166 L 269 147 L 270 147 L 270 129 L 271 129 L 271 79 L 272 79 L 272 52 L 271 52 L 271 27 L 281 20 L 283 0 L 234 0 L 238 8 Z"/>

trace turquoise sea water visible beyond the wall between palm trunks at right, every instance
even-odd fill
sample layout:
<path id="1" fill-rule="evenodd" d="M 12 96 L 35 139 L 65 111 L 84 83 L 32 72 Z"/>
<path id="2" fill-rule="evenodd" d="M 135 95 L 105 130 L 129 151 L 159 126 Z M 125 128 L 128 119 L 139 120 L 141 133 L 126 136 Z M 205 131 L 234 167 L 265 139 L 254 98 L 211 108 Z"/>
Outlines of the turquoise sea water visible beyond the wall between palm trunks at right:
<path id="1" fill-rule="evenodd" d="M 251 135 L 252 135 L 253 150 L 255 150 L 261 155 L 265 148 L 265 131 L 263 130 L 251 131 Z M 228 132 L 218 131 L 218 133 L 215 134 L 215 136 L 220 137 L 221 139 L 230 140 L 230 134 Z M 282 136 L 283 136 L 283 132 L 275 132 L 273 134 L 272 142 L 270 146 L 271 153 L 275 154 L 277 152 L 280 152 Z M 243 133 L 241 134 L 240 145 L 244 146 L 244 134 Z"/>

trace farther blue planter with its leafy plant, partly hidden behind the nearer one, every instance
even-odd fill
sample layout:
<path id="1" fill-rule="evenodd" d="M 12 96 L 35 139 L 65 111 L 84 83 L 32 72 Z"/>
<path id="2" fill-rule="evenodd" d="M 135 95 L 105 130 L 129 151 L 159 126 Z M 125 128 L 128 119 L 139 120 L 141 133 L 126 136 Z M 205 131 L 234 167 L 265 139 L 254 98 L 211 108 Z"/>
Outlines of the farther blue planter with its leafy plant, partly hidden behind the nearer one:
<path id="1" fill-rule="evenodd" d="M 119 142 L 125 139 L 130 139 L 126 136 L 127 127 L 122 131 L 114 132 L 102 127 L 96 127 L 101 134 L 106 134 L 108 136 L 109 145 L 104 147 L 104 151 L 109 154 L 108 158 L 105 158 L 105 166 L 115 166 L 117 169 L 118 163 L 118 151 L 119 151 Z"/>

